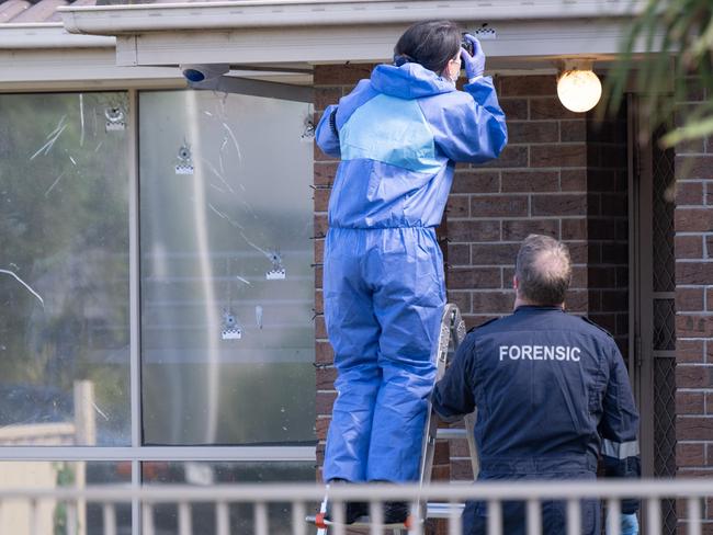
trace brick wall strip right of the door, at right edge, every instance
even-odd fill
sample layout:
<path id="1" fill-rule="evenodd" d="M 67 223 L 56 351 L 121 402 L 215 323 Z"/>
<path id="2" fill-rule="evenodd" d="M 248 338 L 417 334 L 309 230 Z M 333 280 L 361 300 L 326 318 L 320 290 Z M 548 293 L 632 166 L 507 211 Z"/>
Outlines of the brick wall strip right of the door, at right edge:
<path id="1" fill-rule="evenodd" d="M 678 476 L 712 477 L 713 138 L 677 147 L 676 179 Z M 711 534 L 713 500 L 704 512 L 703 533 Z M 686 516 L 684 508 L 680 515 Z"/>

